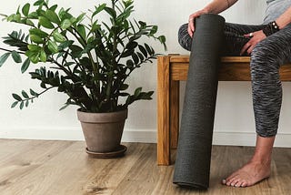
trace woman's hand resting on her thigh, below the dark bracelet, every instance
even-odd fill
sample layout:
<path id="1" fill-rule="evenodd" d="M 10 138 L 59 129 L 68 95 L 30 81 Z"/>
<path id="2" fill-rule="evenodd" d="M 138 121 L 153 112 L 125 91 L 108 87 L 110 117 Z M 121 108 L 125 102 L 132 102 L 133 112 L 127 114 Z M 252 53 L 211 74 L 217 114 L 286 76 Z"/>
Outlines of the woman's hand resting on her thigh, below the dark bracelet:
<path id="1" fill-rule="evenodd" d="M 250 40 L 243 46 L 242 50 L 240 51 L 240 55 L 242 56 L 245 52 L 250 55 L 255 48 L 256 44 L 263 39 L 266 38 L 266 35 L 263 33 L 263 30 L 256 31 L 254 33 L 249 33 L 244 35 L 246 37 L 250 37 Z"/>

